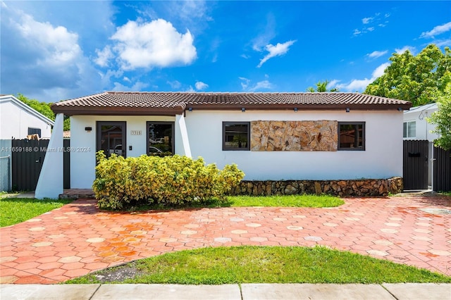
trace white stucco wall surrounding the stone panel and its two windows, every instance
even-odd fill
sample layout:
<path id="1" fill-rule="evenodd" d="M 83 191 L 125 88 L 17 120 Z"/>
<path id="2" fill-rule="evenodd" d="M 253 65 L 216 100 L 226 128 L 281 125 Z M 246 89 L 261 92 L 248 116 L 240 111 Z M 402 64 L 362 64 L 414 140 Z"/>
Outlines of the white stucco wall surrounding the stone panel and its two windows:
<path id="1" fill-rule="evenodd" d="M 223 121 L 338 120 L 366 122 L 365 151 L 222 151 Z M 186 113 L 192 157 L 237 163 L 245 180 L 333 180 L 402 176 L 398 111 L 192 111 Z"/>

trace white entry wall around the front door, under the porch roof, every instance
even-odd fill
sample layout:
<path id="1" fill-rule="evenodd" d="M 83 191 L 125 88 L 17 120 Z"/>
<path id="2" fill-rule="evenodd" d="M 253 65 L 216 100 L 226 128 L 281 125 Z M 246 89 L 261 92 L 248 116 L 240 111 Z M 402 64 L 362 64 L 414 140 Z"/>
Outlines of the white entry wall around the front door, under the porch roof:
<path id="1" fill-rule="evenodd" d="M 174 117 L 165 116 L 105 116 L 105 115 L 74 115 L 70 117 L 70 188 L 90 189 L 95 179 L 96 165 L 96 122 L 126 121 L 127 146 L 123 146 L 127 156 L 140 156 L 146 151 L 147 121 L 175 122 Z M 85 127 L 92 127 L 87 132 Z M 130 135 L 131 130 L 141 130 L 142 135 Z M 175 137 L 175 144 L 180 144 Z M 132 150 L 128 147 L 132 146 Z"/>

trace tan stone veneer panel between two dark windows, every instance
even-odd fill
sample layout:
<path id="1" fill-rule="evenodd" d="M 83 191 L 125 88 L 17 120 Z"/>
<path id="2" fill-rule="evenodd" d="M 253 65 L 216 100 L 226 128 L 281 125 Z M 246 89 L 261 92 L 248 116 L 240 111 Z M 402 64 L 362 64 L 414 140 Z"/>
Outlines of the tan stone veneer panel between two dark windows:
<path id="1" fill-rule="evenodd" d="M 252 121 L 251 151 L 337 151 L 338 122 Z"/>

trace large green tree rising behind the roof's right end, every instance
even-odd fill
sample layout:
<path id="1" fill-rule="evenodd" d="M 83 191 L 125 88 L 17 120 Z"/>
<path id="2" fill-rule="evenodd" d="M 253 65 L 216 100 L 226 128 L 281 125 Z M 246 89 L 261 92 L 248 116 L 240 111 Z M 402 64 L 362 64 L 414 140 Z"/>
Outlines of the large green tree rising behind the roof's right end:
<path id="1" fill-rule="evenodd" d="M 413 56 L 409 51 L 393 54 L 384 74 L 366 87 L 364 94 L 407 100 L 412 106 L 435 102 L 451 81 L 451 50 L 435 44 Z"/>

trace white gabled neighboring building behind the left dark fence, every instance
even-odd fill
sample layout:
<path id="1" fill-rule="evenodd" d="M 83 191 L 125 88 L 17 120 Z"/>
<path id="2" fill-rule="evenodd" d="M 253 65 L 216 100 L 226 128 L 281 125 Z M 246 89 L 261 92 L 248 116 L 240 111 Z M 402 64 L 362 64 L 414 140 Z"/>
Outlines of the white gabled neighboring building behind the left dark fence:
<path id="1" fill-rule="evenodd" d="M 0 139 L 25 139 L 37 134 L 49 139 L 54 121 L 12 95 L 0 96 Z"/>

